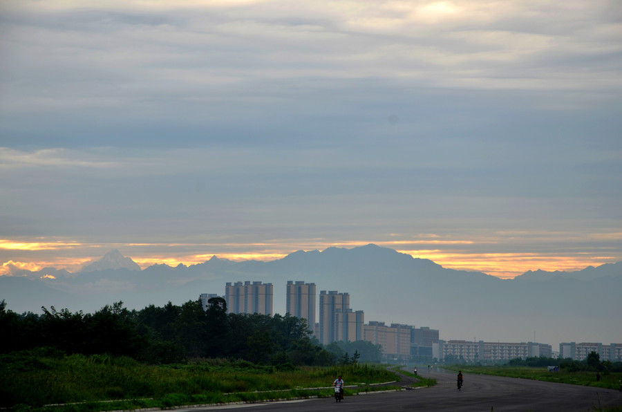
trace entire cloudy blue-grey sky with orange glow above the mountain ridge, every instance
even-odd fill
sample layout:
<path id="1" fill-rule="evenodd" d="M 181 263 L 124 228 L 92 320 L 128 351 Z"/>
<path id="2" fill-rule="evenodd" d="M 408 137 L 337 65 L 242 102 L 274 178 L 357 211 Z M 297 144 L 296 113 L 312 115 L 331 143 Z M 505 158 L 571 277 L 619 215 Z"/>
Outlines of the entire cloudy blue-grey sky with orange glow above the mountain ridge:
<path id="1" fill-rule="evenodd" d="M 0 274 L 622 261 L 619 1 L 0 1 Z"/>

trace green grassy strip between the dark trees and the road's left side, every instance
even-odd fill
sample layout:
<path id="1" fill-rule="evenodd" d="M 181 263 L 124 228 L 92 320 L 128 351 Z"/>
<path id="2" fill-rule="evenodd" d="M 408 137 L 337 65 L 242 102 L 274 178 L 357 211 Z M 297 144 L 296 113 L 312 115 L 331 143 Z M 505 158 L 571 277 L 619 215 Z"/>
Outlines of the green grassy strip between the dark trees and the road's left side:
<path id="1" fill-rule="evenodd" d="M 395 380 L 395 374 L 384 367 L 286 369 L 292 370 L 223 359 L 153 366 L 107 355 L 12 353 L 0 355 L 0 407 L 20 412 L 93 412 L 328 397 L 333 391 L 326 386 L 337 375 L 343 375 L 347 385 L 361 386 L 346 388 L 346 395 L 395 388 L 370 386 Z"/>

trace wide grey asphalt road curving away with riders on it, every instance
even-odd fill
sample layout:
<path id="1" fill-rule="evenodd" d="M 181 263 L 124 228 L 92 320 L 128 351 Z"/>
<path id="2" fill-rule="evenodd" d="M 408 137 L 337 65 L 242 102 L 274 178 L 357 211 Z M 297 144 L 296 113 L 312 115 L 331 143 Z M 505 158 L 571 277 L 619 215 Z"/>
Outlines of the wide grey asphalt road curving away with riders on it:
<path id="1" fill-rule="evenodd" d="M 424 373 L 437 385 L 400 392 L 346 396 L 340 403 L 333 398 L 211 406 L 187 411 L 230 411 L 249 409 L 265 411 L 594 411 L 598 406 L 622 406 L 622 393 L 612 389 L 592 388 L 511 377 L 464 375 L 458 391 L 453 373 Z M 347 382 L 347 376 L 344 376 Z M 401 384 L 408 384 L 402 376 Z M 347 391 L 346 391 L 347 394 Z M 599 403 L 600 402 L 600 403 Z M 184 411 L 182 409 L 181 411 Z M 242 411 L 238 411 L 242 412 Z"/>

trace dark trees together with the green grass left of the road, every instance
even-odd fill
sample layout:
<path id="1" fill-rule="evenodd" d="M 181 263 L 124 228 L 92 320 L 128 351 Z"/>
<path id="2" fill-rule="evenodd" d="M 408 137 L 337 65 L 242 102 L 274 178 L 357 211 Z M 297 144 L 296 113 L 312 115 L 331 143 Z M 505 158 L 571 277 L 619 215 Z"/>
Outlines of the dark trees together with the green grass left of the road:
<path id="1" fill-rule="evenodd" d="M 0 408 L 94 412 L 346 395 L 395 388 L 370 366 L 368 342 L 321 346 L 303 319 L 227 313 L 224 299 L 94 314 L 41 308 L 16 314 L 0 301 Z M 374 385 L 381 384 L 381 385 Z M 328 386 L 328 388 L 327 388 Z"/>

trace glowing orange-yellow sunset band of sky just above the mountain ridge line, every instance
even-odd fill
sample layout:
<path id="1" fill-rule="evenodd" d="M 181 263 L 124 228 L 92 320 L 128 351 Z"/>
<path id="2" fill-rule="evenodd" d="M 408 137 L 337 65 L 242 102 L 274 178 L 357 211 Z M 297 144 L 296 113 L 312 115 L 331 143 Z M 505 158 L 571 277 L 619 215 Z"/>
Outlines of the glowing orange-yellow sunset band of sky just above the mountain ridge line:
<path id="1" fill-rule="evenodd" d="M 497 233 L 496 236 L 500 234 Z M 509 234 L 504 234 L 509 236 Z M 513 232 L 513 236 L 525 238 L 527 234 Z M 552 241 L 552 234 L 533 234 L 533 238 Z M 37 250 L 71 250 L 73 256 L 58 256 L 46 261 L 24 261 L 23 257 L 0 264 L 0 276 L 11 275 L 18 270 L 37 272 L 46 267 L 64 268 L 69 272 L 78 272 L 84 263 L 100 259 L 104 251 L 119 249 L 124 256 L 129 256 L 141 269 L 150 265 L 166 264 L 176 267 L 180 263 L 190 266 L 209 261 L 212 256 L 229 261 L 274 261 L 296 250 L 326 250 L 328 247 L 352 248 L 374 243 L 380 247 L 390 247 L 414 258 L 430 259 L 444 268 L 466 270 L 469 272 L 484 272 L 502 279 L 509 279 L 523 274 L 529 270 L 556 270 L 572 272 L 582 270 L 587 266 L 599 266 L 604 263 L 614 263 L 616 257 L 607 256 L 600 252 L 574 253 L 574 254 L 547 254 L 543 253 L 478 253 L 486 245 L 499 245 L 502 238 L 488 236 L 469 240 L 453 236 L 440 236 L 436 234 L 417 234 L 411 240 L 402 240 L 399 234 L 391 234 L 395 240 L 388 241 L 339 241 L 329 242 L 323 238 L 312 239 L 271 239 L 257 243 L 80 243 L 79 241 L 46 241 L 44 238 L 36 238 L 35 241 L 10 241 L 0 239 L 0 250 L 26 251 L 29 254 Z M 570 234 L 556 234 L 565 238 L 574 238 Z M 622 234 L 591 234 L 591 238 L 606 238 L 612 240 L 620 238 Z M 554 236 L 553 236 L 554 237 Z M 426 245 L 429 247 L 426 248 Z M 473 247 L 471 247 L 473 245 Z M 411 246 L 411 247 L 409 247 Z M 420 246 L 417 247 L 417 246 Z M 458 249 L 458 247 L 460 247 Z M 498 247 L 498 246 L 497 246 Z M 96 256 L 93 251 L 97 251 Z M 226 252 L 223 252 L 226 250 Z M 150 252 L 147 252 L 150 251 Z M 162 252 L 166 251 L 166 252 Z M 213 251 L 207 253 L 206 251 Z M 81 252 L 81 253 L 80 253 Z M 76 257 L 76 254 L 88 255 L 88 257 Z M 19 261 L 18 261 L 19 260 Z M 619 260 L 619 259 L 618 259 Z"/>

